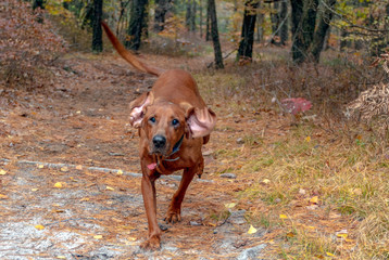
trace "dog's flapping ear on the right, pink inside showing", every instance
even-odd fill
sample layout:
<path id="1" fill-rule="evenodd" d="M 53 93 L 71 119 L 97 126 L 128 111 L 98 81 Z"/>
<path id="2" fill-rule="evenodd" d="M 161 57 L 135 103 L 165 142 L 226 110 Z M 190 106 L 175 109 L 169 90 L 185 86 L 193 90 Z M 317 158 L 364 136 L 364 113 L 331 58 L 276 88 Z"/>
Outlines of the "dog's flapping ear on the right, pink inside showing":
<path id="1" fill-rule="evenodd" d="M 202 138 L 212 132 L 216 125 L 216 114 L 212 109 L 193 107 L 188 103 L 184 103 L 181 106 L 186 110 L 186 121 L 190 136 Z"/>

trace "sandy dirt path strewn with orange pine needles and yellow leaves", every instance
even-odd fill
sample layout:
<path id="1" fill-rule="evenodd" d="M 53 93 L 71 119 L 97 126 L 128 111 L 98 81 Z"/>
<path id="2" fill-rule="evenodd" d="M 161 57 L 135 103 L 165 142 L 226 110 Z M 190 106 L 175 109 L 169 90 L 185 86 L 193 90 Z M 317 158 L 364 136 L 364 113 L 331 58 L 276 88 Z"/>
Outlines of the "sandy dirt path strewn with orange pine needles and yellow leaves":
<path id="1" fill-rule="evenodd" d="M 244 210 L 225 206 L 243 184 L 206 174 L 217 167 L 212 142 L 183 222 L 162 222 L 178 177 L 159 181 L 162 249 L 139 249 L 147 221 L 140 179 L 129 173 L 140 170 L 127 105 L 153 80 L 114 56 L 71 57 L 50 94 L 27 95 L 1 113 L 1 259 L 261 258 L 266 232 L 247 234 Z"/>

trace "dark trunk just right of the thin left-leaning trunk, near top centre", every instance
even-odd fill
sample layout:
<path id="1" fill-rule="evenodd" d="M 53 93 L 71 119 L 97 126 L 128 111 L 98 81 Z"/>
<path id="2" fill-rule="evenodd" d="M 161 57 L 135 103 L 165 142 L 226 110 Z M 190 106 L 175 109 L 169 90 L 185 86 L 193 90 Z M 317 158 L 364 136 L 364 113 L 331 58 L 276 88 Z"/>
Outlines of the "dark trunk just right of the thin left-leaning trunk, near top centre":
<path id="1" fill-rule="evenodd" d="M 252 47 L 254 43 L 254 30 L 256 21 L 256 9 L 259 1 L 248 0 L 244 3 L 244 17 L 241 30 L 241 40 L 239 42 L 239 50 L 237 60 L 252 60 Z"/>

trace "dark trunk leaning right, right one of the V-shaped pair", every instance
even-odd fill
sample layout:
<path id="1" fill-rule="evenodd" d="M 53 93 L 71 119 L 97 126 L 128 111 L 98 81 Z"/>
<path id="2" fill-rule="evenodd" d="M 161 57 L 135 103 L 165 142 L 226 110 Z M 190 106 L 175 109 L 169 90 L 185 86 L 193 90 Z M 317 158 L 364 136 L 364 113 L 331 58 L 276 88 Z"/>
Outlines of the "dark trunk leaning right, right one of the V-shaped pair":
<path id="1" fill-rule="evenodd" d="M 332 9 L 335 3 L 336 3 L 336 0 L 327 0 L 326 4 Z M 330 10 L 328 10 L 327 8 L 325 8 L 325 10 L 323 10 L 322 15 L 319 17 L 317 28 L 316 28 L 314 37 L 313 37 L 312 47 L 311 47 L 311 54 L 312 54 L 313 61 L 315 63 L 318 63 L 318 61 L 319 61 L 323 46 L 324 46 L 326 35 L 327 35 L 327 31 L 329 28 L 329 23 L 331 22 L 331 20 L 332 20 L 332 12 Z"/>

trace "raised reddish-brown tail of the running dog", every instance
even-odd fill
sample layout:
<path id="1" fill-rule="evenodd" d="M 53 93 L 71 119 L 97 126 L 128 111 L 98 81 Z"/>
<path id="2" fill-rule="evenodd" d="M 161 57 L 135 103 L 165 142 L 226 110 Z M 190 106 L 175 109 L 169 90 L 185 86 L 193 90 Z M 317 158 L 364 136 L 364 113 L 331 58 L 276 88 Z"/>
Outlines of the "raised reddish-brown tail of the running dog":
<path id="1" fill-rule="evenodd" d="M 129 64 L 131 64 L 135 68 L 148 73 L 151 75 L 160 76 L 163 70 L 160 68 L 154 68 L 147 66 L 145 63 L 140 62 L 130 51 L 126 50 L 126 48 L 118 41 L 116 36 L 112 32 L 110 27 L 105 24 L 105 22 L 101 22 L 102 27 L 105 30 L 105 34 L 110 41 L 112 42 L 112 46 L 115 48 L 117 53 L 126 60 Z"/>

